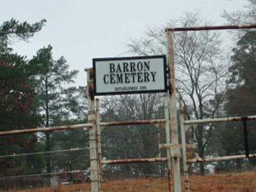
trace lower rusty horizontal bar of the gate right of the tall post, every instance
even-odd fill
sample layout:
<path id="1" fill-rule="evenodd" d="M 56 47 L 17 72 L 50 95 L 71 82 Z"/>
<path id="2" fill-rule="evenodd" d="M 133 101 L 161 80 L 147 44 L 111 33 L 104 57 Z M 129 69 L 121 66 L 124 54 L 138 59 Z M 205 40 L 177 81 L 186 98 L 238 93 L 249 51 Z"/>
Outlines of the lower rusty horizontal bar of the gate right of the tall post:
<path id="1" fill-rule="evenodd" d="M 256 154 L 250 154 L 250 158 L 255 158 Z M 212 162 L 212 161 L 228 161 L 235 159 L 246 159 L 246 155 L 238 155 L 238 156 L 223 156 L 223 157 L 209 157 L 209 158 L 200 158 L 200 159 L 188 159 L 188 163 L 200 163 L 200 162 Z"/>

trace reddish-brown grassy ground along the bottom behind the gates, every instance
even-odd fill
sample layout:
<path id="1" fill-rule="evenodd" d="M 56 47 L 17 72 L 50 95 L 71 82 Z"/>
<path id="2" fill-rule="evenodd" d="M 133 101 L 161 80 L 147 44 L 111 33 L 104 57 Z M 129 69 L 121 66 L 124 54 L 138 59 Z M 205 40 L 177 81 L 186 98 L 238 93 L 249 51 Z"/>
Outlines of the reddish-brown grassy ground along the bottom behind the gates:
<path id="1" fill-rule="evenodd" d="M 124 179 L 104 182 L 104 191 L 121 192 L 158 192 L 167 191 L 166 179 Z M 191 191 L 256 191 L 256 172 L 218 174 L 211 176 L 189 177 Z M 59 191 L 90 191 L 90 184 L 76 184 L 72 186 L 58 186 L 57 188 L 26 189 L 19 192 L 59 192 Z M 182 190 L 184 191 L 184 189 Z"/>

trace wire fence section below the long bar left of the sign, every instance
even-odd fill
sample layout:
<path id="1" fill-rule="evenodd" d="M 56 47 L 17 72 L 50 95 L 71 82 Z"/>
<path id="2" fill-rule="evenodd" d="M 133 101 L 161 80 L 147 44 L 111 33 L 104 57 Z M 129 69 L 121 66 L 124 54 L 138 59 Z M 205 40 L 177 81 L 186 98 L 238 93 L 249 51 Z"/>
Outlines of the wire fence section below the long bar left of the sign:
<path id="1" fill-rule="evenodd" d="M 67 141 L 72 134 L 77 135 L 75 141 Z M 90 155 L 84 140 L 87 136 L 83 130 L 52 132 L 51 150 L 45 148 L 44 134 L 27 135 L 26 140 L 22 136 L 23 140 L 15 140 L 19 136 L 1 136 L 0 191 L 56 188 L 60 184 L 90 186 Z M 36 138 L 33 145 L 30 138 Z M 29 144 L 25 145 L 25 141 Z"/>

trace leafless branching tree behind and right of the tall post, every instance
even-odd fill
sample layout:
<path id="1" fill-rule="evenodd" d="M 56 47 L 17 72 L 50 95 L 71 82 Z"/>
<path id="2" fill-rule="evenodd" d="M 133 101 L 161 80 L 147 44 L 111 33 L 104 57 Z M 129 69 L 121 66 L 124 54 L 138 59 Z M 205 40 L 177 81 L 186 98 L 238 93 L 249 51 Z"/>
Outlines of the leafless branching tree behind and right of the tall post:
<path id="1" fill-rule="evenodd" d="M 169 25 L 173 27 L 176 24 L 191 27 L 209 23 L 200 19 L 198 13 L 186 13 L 180 20 Z M 223 107 L 227 75 L 220 34 L 212 31 L 185 31 L 175 33 L 174 40 L 177 92 L 185 100 L 186 118 L 214 118 Z M 127 47 L 133 54 L 165 54 L 164 30 L 148 29 L 143 38 L 131 40 Z M 213 125 L 209 129 L 203 128 L 198 125 L 195 129 L 200 157 L 204 157 Z M 204 164 L 200 165 L 200 172 L 204 173 Z"/>

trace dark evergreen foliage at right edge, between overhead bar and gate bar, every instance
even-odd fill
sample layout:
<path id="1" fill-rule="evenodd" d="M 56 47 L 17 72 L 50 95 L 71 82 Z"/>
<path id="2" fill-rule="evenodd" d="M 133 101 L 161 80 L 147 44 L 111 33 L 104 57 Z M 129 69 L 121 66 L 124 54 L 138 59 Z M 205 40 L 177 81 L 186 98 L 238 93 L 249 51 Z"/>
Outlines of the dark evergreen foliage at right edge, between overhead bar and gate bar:
<path id="1" fill-rule="evenodd" d="M 232 115 L 254 115 L 256 111 L 256 32 L 245 33 L 233 49 L 229 68 L 231 88 L 227 92 L 227 112 Z"/>

